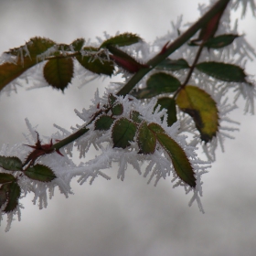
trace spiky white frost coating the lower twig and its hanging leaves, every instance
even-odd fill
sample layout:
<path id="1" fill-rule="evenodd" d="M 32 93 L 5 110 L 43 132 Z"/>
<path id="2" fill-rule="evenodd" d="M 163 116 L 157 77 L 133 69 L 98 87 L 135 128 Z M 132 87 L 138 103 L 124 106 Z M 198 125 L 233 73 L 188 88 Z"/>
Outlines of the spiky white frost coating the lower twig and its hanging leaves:
<path id="1" fill-rule="evenodd" d="M 91 108 L 88 111 L 83 110 L 82 112 L 77 112 L 77 114 L 83 120 L 86 119 L 88 121 L 88 117 L 91 115 L 91 112 L 95 112 L 95 105 L 103 106 L 107 104 L 107 95 L 108 93 L 106 93 L 104 97 L 100 98 L 98 92 L 96 92 L 95 99 L 93 100 L 93 105 Z M 43 183 L 36 180 L 31 180 L 26 176 L 19 177 L 20 173 L 16 172 L 15 176 L 17 177 L 18 185 L 21 187 L 22 197 L 26 197 L 27 193 L 32 192 L 35 194 L 33 199 L 34 204 L 38 202 L 39 208 L 46 208 L 48 204 L 47 198 L 51 198 L 53 196 L 55 187 L 59 187 L 60 192 L 68 197 L 69 194 L 72 194 L 69 184 L 73 177 L 79 177 L 80 184 L 88 181 L 88 179 L 90 179 L 89 182 L 91 184 L 93 180 L 98 176 L 110 179 L 111 177 L 108 175 L 108 169 L 112 168 L 112 163 L 117 163 L 119 165 L 117 177 L 121 180 L 123 180 L 125 176 L 125 171 L 127 170 L 128 165 L 132 165 L 140 175 L 144 173 L 145 177 L 149 176 L 148 182 L 150 182 L 152 178 L 155 177 L 155 185 L 161 178 L 165 179 L 167 176 L 173 176 L 173 181 L 176 182 L 174 187 L 182 186 L 185 188 L 186 193 L 192 192 L 193 196 L 189 204 L 191 205 L 192 202 L 196 200 L 199 209 L 203 212 L 204 210 L 200 202 L 200 197 L 202 196 L 201 176 L 207 172 L 209 164 L 208 162 L 203 162 L 198 159 L 196 148 L 186 143 L 186 137 L 184 135 L 178 134 L 180 127 L 179 123 L 174 123 L 171 127 L 167 126 L 165 110 L 159 111 L 158 107 L 154 111 L 156 100 L 142 104 L 140 101 L 128 95 L 124 98 L 118 97 L 117 101 L 123 104 L 122 117 L 130 119 L 130 112 L 140 112 L 142 119 L 145 120 L 146 123 L 158 123 L 161 125 L 165 130 L 165 133 L 173 138 L 176 143 L 178 143 L 183 148 L 195 171 L 197 186 L 195 188 L 189 187 L 176 175 L 176 171 L 172 165 L 170 157 L 159 145 L 156 147 L 155 153 L 153 155 L 138 154 L 139 147 L 135 138 L 134 141 L 131 142 L 131 145 L 125 149 L 113 148 L 112 129 L 108 131 L 95 131 L 94 121 L 87 126 L 90 131 L 82 135 L 74 143 L 74 145 L 68 144 L 61 150 L 61 153 L 64 156 L 53 153 L 49 155 L 43 155 L 37 159 L 37 164 L 47 165 L 57 176 L 57 178 L 52 182 Z M 162 117 L 164 117 L 163 122 L 161 121 Z M 58 132 L 52 134 L 52 136 L 48 138 L 48 142 L 41 142 L 42 144 L 48 144 L 51 138 L 53 138 L 55 141 L 61 140 L 70 134 L 65 129 L 60 128 L 59 126 L 56 127 L 59 128 L 61 133 Z M 35 144 L 37 142 L 36 129 L 33 128 L 28 121 L 27 128 L 29 130 L 29 133 L 26 135 L 27 144 Z M 78 127 L 77 129 L 80 128 L 81 127 Z M 73 132 L 76 132 L 77 129 L 74 129 Z M 80 150 L 80 155 L 84 155 L 85 152 L 89 150 L 91 144 L 93 144 L 96 149 L 100 150 L 101 154 L 96 156 L 94 159 L 89 160 L 88 162 L 81 162 L 80 165 L 75 165 L 69 158 L 72 147 L 77 146 Z M 26 144 L 16 144 L 13 148 L 8 148 L 4 145 L 0 151 L 0 155 L 17 156 L 24 162 L 29 152 L 31 152 L 31 148 L 29 148 Z M 144 163 L 147 163 L 147 166 L 143 171 L 141 168 Z M 2 168 L 0 168 L 0 172 L 8 173 L 8 171 Z M 9 173 L 14 174 L 14 172 Z M 14 215 L 17 214 L 19 216 L 18 219 L 20 219 L 20 208 L 22 208 L 21 205 L 19 205 L 15 211 L 8 214 L 9 224 L 7 225 L 6 229 L 10 228 L 10 223 L 14 218 Z"/>

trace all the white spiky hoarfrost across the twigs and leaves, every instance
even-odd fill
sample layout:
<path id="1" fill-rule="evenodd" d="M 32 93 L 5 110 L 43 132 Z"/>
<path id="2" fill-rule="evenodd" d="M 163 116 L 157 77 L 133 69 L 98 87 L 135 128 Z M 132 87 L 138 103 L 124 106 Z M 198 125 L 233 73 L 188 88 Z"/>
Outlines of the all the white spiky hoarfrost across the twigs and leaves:
<path id="1" fill-rule="evenodd" d="M 211 1 L 213 5 L 216 0 Z M 239 34 L 237 22 L 231 26 L 230 25 L 230 12 L 232 9 L 238 8 L 239 5 L 242 5 L 242 15 L 245 14 L 248 5 L 251 5 L 252 12 L 255 12 L 255 3 L 253 0 L 233 0 L 230 1 L 229 6 L 224 12 L 224 15 L 221 17 L 219 30 L 216 35 L 223 34 Z M 201 15 L 208 11 L 209 6 L 199 5 L 199 11 Z M 129 47 L 122 48 L 125 52 L 133 56 L 134 59 L 137 59 L 140 63 L 145 63 L 148 59 L 153 58 L 159 51 L 165 46 L 167 42 L 173 42 L 179 33 L 182 33 L 186 29 L 182 27 L 182 17 L 178 17 L 176 23 L 172 23 L 173 30 L 168 32 L 164 37 L 158 37 L 155 39 L 153 44 L 147 44 L 145 42 L 140 42 Z M 188 25 L 189 26 L 189 25 Z M 197 38 L 198 34 L 195 36 Z M 110 36 L 105 33 L 105 37 L 109 38 Z M 87 44 L 94 47 L 99 47 L 104 39 L 98 37 L 99 43 L 92 43 L 88 41 Z M 23 54 L 29 56 L 27 48 L 21 48 L 19 58 L 23 59 Z M 44 52 L 42 55 L 38 56 L 38 59 L 47 58 L 52 52 L 55 52 L 56 48 L 49 48 L 48 51 Z M 88 52 L 81 52 L 83 56 L 87 56 Z M 91 53 L 90 53 L 91 54 Z M 197 47 L 188 47 L 187 44 L 184 44 L 181 48 L 176 49 L 176 51 L 169 57 L 170 59 L 186 59 L 188 64 L 191 65 L 196 57 Z M 99 54 L 95 52 L 95 58 L 99 59 Z M 231 63 L 237 66 L 240 66 L 242 69 L 245 68 L 246 61 L 255 59 L 256 53 L 250 44 L 246 41 L 244 35 L 236 38 L 232 44 L 225 48 L 219 49 L 207 49 L 204 48 L 200 59 L 198 62 L 203 61 L 222 61 L 226 63 Z M 93 61 L 94 59 L 91 59 Z M 101 60 L 101 59 L 100 59 Z M 8 55 L 3 55 L 0 59 L 0 64 L 3 62 L 14 62 L 14 59 L 10 59 Z M 76 63 L 77 65 L 77 63 Z M 166 73 L 169 73 L 168 70 L 164 70 Z M 77 71 L 82 78 L 80 71 Z M 144 88 L 146 86 L 146 80 L 158 70 L 153 70 L 144 76 L 144 79 L 141 80 L 137 88 Z M 178 70 L 170 72 L 181 82 L 187 78 L 187 69 Z M 118 69 L 115 74 L 123 74 L 123 84 L 131 78 L 131 74 L 125 72 L 123 69 Z M 92 77 L 91 80 L 98 77 L 95 74 L 92 74 L 90 71 L 84 73 L 87 77 Z M 20 77 L 21 79 L 27 79 L 27 74 L 24 74 Z M 12 86 L 16 89 L 16 85 L 19 85 L 19 81 L 16 80 L 12 83 Z M 40 84 L 44 84 L 40 82 Z M 68 197 L 69 194 L 72 194 L 70 187 L 70 181 L 73 177 L 78 177 L 80 184 L 89 182 L 90 184 L 98 176 L 110 179 L 111 176 L 108 174 L 108 170 L 112 168 L 112 163 L 118 165 L 117 177 L 121 180 L 125 177 L 125 172 L 128 168 L 128 165 L 132 165 L 135 170 L 137 170 L 139 175 L 143 175 L 148 178 L 148 182 L 155 179 L 155 185 L 161 178 L 166 178 L 167 176 L 172 176 L 172 181 L 175 182 L 174 187 L 181 186 L 185 188 L 186 193 L 191 192 L 192 198 L 189 202 L 191 205 L 194 201 L 197 201 L 199 209 L 203 212 L 203 208 L 200 202 L 200 197 L 202 197 L 202 181 L 201 176 L 207 172 L 209 162 L 200 160 L 197 157 L 198 147 L 207 155 L 208 160 L 215 160 L 215 151 L 218 145 L 224 149 L 223 142 L 225 138 L 233 138 L 229 133 L 237 131 L 236 121 L 232 121 L 229 118 L 229 112 L 233 111 L 236 108 L 235 102 L 240 98 L 245 99 L 245 111 L 254 112 L 254 99 L 256 97 L 255 84 L 252 84 L 251 80 L 248 80 L 248 83 L 238 83 L 238 82 L 223 82 L 213 78 L 209 78 L 207 75 L 199 72 L 197 69 L 193 72 L 189 80 L 190 85 L 195 85 L 201 88 L 204 91 L 207 91 L 211 95 L 212 99 L 216 101 L 217 108 L 219 111 L 219 131 L 216 137 L 208 144 L 202 143 L 200 140 L 200 134 L 198 133 L 195 123 L 192 118 L 183 112 L 177 110 L 178 122 L 174 123 L 169 127 L 166 123 L 166 111 L 161 110 L 158 106 L 155 109 L 155 103 L 157 99 L 153 100 L 144 100 L 138 101 L 133 96 L 126 95 L 125 97 L 117 97 L 123 105 L 123 114 L 121 116 L 115 117 L 120 118 L 124 117 L 131 120 L 131 112 L 139 112 L 142 116 L 142 119 L 146 123 L 157 123 L 165 130 L 165 133 L 168 134 L 172 139 L 179 144 L 185 151 L 187 158 L 189 159 L 190 164 L 192 165 L 195 177 L 197 179 L 197 186 L 195 188 L 189 187 L 185 184 L 177 175 L 172 164 L 172 161 L 169 155 L 166 154 L 165 149 L 163 149 L 159 144 L 156 146 L 155 153 L 152 155 L 142 155 L 138 154 L 139 146 L 135 140 L 131 142 L 129 146 L 125 149 L 115 148 L 112 143 L 112 128 L 108 131 L 96 131 L 94 128 L 94 123 L 97 121 L 89 123 L 91 116 L 95 112 L 98 112 L 100 109 L 103 109 L 104 106 L 108 104 L 108 95 L 110 93 L 116 93 L 120 89 L 122 83 L 115 83 L 110 86 L 110 88 L 105 92 L 103 97 L 99 96 L 99 92 L 96 91 L 95 97 L 92 100 L 92 105 L 89 110 L 83 109 L 81 112 L 75 111 L 76 114 L 82 119 L 85 123 L 83 126 L 87 125 L 89 131 L 82 135 L 78 140 L 72 144 L 68 144 L 63 149 L 61 153 L 64 156 L 53 153 L 50 155 L 44 155 L 37 159 L 37 164 L 47 165 L 50 167 L 54 174 L 57 176 L 52 182 L 42 183 L 36 180 L 31 180 L 26 176 L 19 176 L 20 173 L 16 172 L 14 175 L 17 177 L 18 185 L 21 187 L 22 197 L 26 197 L 27 193 L 34 193 L 35 197 L 33 199 L 34 204 L 38 202 L 39 208 L 47 207 L 47 199 L 51 198 L 54 194 L 56 187 L 59 188 L 60 192 Z M 38 85 L 36 85 L 37 87 Z M 232 89 L 235 92 L 234 101 L 229 101 L 229 90 Z M 110 113 L 108 113 L 110 115 Z M 234 124 L 234 127 L 229 126 L 227 123 Z M 114 125 L 114 123 L 112 124 Z M 65 130 L 64 128 L 55 125 L 59 129 L 58 133 L 52 134 L 48 137 L 48 141 L 44 144 L 49 144 L 50 140 L 53 139 L 54 142 L 57 140 L 64 139 L 69 136 L 71 132 Z M 72 133 L 77 132 L 83 126 L 77 125 L 76 128 L 73 128 Z M 35 144 L 37 142 L 37 133 L 36 128 L 32 127 L 27 121 L 27 127 L 29 133 L 26 135 L 27 144 Z M 40 136 L 41 138 L 41 136 Z M 42 143 L 43 144 L 43 143 Z M 95 156 L 94 159 L 91 159 L 87 162 L 81 162 L 79 165 L 76 165 L 70 157 L 72 156 L 73 148 L 76 147 L 80 152 L 80 157 L 84 157 L 88 150 L 91 148 L 91 145 L 94 146 L 96 150 L 100 153 Z M 25 144 L 16 144 L 14 147 L 9 148 L 4 145 L 0 151 L 0 155 L 5 156 L 17 156 L 23 162 L 26 160 L 27 155 L 31 152 L 31 148 L 27 147 Z M 146 163 L 145 169 L 142 169 Z M 10 173 L 0 167 L 0 173 Z M 12 172 L 13 174 L 13 172 Z M 15 211 L 7 214 L 7 228 L 10 228 L 11 221 L 14 219 L 14 216 L 17 215 L 20 219 L 20 208 L 22 205 L 18 205 Z M 3 208 L 2 208 L 3 209 Z M 0 214 L 3 214 L 0 209 Z M 2 219 L 2 215 L 1 215 Z M 1 220 L 0 219 L 0 220 Z"/>

